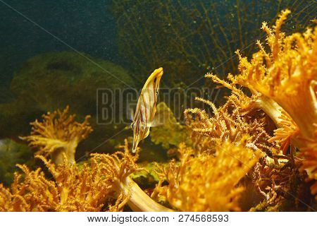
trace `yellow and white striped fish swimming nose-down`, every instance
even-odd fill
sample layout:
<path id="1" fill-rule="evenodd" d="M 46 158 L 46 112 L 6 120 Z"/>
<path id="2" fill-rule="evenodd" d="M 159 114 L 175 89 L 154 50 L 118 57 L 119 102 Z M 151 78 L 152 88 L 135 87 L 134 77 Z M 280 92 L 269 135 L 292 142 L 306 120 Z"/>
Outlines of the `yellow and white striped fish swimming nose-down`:
<path id="1" fill-rule="evenodd" d="M 163 76 L 163 68 L 156 69 L 145 82 L 137 106 L 131 127 L 133 129 L 132 153 L 135 153 L 139 142 L 149 136 L 150 127 L 155 126 L 156 104 L 159 95 L 159 85 Z"/>

